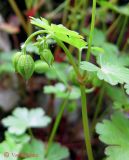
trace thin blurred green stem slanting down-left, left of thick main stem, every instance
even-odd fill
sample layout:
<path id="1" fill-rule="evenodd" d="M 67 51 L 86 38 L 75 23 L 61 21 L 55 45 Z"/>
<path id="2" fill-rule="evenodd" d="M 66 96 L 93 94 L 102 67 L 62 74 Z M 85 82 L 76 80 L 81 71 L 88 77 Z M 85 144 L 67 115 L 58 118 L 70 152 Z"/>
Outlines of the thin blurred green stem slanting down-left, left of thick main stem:
<path id="1" fill-rule="evenodd" d="M 62 118 L 62 115 L 63 115 L 63 112 L 64 112 L 64 109 L 65 109 L 65 106 L 67 105 L 68 103 L 68 98 L 69 98 L 69 94 L 70 92 L 68 93 L 68 96 L 66 97 L 66 99 L 64 100 L 64 102 L 62 103 L 62 105 L 60 106 L 60 111 L 56 117 L 56 120 L 55 120 L 55 123 L 54 123 L 54 126 L 53 126 L 53 129 L 52 129 L 52 132 L 51 132 L 51 135 L 49 137 L 49 140 L 48 140 L 48 145 L 47 145 L 47 148 L 46 148 L 46 153 L 45 155 L 47 156 L 48 152 L 49 152 L 49 149 L 51 147 L 51 144 L 54 140 L 54 137 L 55 137 L 55 134 L 56 134 L 56 131 L 58 129 L 58 126 L 60 124 L 60 120 Z"/>

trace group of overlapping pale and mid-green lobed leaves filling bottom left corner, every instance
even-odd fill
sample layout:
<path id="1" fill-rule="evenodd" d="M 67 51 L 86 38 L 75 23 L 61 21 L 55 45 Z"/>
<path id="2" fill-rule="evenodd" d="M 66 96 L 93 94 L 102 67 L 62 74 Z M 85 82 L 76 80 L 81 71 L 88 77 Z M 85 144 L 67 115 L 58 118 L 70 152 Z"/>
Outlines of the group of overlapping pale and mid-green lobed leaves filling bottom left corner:
<path id="1" fill-rule="evenodd" d="M 58 143 L 52 143 L 46 156 L 46 143 L 34 137 L 31 128 L 47 127 L 50 122 L 51 118 L 46 116 L 41 108 L 15 109 L 12 116 L 2 120 L 2 124 L 8 127 L 8 130 L 5 132 L 5 140 L 0 143 L 0 158 L 61 160 L 68 157 L 68 149 Z"/>

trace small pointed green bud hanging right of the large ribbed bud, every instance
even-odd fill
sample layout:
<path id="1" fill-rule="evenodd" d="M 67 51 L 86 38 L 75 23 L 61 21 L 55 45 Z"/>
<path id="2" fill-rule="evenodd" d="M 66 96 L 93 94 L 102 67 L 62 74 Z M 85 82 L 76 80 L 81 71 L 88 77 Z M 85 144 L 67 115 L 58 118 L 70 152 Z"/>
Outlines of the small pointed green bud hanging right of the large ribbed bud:
<path id="1" fill-rule="evenodd" d="M 44 60 L 49 66 L 53 64 L 54 57 L 50 49 L 44 49 L 40 54 L 41 60 Z"/>

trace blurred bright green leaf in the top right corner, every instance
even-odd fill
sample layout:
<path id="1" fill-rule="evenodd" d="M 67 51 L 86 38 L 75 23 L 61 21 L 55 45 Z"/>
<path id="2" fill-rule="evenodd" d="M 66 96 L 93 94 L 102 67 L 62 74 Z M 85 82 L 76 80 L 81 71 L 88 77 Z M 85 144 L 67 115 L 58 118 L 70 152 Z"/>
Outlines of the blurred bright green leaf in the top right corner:
<path id="1" fill-rule="evenodd" d="M 113 11 L 119 14 L 129 16 L 129 5 L 128 4 L 125 6 L 117 6 L 115 4 L 112 4 L 111 2 L 105 2 L 105 1 L 101 1 L 99 2 L 99 4 L 105 8 L 112 9 Z"/>

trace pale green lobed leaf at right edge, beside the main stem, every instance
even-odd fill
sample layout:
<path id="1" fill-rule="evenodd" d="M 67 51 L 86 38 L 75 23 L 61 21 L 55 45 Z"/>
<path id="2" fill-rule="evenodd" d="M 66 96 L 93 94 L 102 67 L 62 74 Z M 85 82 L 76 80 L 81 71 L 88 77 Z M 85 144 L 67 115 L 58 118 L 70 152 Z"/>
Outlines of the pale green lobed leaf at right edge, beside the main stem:
<path id="1" fill-rule="evenodd" d="M 106 57 L 107 58 L 107 57 Z M 108 59 L 105 59 L 105 56 L 99 56 L 99 65 L 100 67 L 83 61 L 80 63 L 80 68 L 82 70 L 87 70 L 90 72 L 96 72 L 100 80 L 104 80 L 111 85 L 117 85 L 118 83 L 128 83 L 129 82 L 129 69 L 123 66 L 118 65 L 115 62 L 110 62 Z"/>

